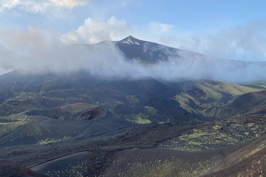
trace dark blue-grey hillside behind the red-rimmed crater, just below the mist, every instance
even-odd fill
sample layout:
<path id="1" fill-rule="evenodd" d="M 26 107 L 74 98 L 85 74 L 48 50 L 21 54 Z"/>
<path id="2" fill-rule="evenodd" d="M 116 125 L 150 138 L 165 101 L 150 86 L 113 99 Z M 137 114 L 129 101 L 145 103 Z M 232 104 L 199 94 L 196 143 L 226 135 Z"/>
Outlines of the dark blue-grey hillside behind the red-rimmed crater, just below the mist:
<path id="1" fill-rule="evenodd" d="M 202 118 L 192 116 L 172 99 L 178 93 L 177 88 L 152 77 L 116 81 L 97 80 L 86 73 L 71 76 L 29 75 L 29 80 L 25 77 L 18 71 L 0 76 L 0 80 L 4 80 L 0 88 L 3 100 L 0 104 L 1 116 L 87 103 L 105 107 L 135 124 L 183 122 L 190 121 L 190 117 L 195 120 Z"/>

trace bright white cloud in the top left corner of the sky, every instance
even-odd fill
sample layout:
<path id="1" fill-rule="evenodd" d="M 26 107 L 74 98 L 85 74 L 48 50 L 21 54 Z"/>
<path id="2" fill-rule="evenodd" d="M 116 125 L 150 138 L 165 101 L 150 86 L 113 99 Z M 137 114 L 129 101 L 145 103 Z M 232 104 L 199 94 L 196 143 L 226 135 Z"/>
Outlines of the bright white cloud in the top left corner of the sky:
<path id="1" fill-rule="evenodd" d="M 89 0 L 2 0 L 0 11 L 5 9 L 19 8 L 21 10 L 38 13 L 45 12 L 49 8 L 73 8 L 86 5 Z"/>

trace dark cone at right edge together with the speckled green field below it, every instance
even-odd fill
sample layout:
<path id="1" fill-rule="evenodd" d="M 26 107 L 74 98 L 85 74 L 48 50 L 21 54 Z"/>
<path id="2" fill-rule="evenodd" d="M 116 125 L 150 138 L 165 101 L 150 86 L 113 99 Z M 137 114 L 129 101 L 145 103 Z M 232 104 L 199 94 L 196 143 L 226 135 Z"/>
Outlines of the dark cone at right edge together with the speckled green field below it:
<path id="1" fill-rule="evenodd" d="M 265 91 L 237 96 L 219 109 L 214 121 L 202 123 L 158 147 L 195 151 L 251 140 L 265 133 L 265 108 Z"/>

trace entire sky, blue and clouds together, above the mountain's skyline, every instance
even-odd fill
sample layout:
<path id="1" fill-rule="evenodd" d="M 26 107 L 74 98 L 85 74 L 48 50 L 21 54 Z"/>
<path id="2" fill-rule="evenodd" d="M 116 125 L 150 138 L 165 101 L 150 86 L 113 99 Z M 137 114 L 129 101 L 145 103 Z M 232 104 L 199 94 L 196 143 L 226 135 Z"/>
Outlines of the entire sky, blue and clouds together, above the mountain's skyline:
<path id="1" fill-rule="evenodd" d="M 265 7 L 263 0 L 2 0 L 0 54 L 132 35 L 220 58 L 266 60 Z"/>

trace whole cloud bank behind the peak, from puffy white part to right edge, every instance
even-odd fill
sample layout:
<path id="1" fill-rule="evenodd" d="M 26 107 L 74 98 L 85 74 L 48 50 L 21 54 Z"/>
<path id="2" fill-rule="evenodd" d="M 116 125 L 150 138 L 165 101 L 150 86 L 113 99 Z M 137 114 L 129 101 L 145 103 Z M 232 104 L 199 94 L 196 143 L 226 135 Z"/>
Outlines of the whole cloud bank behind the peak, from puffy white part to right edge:
<path id="1" fill-rule="evenodd" d="M 189 34 L 172 24 L 151 22 L 133 26 L 115 17 L 106 22 L 87 18 L 78 29 L 61 36 L 64 44 L 94 44 L 103 40 L 121 40 L 132 35 L 178 49 L 234 60 L 266 60 L 266 21 L 253 20 L 247 24 L 222 29 L 211 34 Z"/>

